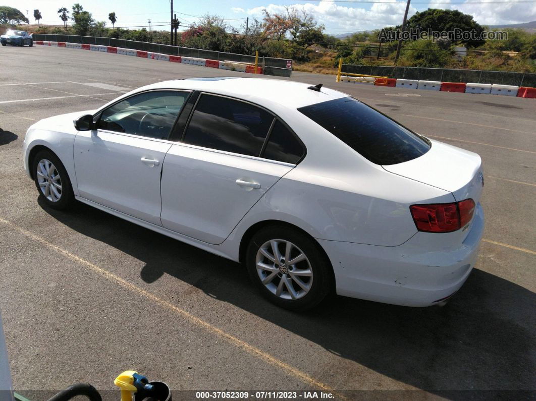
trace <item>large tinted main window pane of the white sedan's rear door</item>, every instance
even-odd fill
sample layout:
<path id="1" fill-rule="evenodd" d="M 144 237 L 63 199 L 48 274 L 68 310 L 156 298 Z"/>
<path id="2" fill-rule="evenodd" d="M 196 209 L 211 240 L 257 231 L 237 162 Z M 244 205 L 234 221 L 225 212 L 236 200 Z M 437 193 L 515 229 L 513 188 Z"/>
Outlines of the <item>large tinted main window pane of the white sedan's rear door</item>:
<path id="1" fill-rule="evenodd" d="M 259 156 L 273 116 L 250 103 L 202 94 L 183 142 Z"/>

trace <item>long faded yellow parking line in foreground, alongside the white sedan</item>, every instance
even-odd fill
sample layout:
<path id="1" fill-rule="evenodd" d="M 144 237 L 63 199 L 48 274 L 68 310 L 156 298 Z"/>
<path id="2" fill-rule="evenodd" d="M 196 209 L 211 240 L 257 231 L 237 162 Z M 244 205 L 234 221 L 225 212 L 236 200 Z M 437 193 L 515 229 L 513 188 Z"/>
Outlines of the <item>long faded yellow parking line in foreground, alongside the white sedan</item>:
<path id="1" fill-rule="evenodd" d="M 301 370 L 296 369 L 296 368 L 292 367 L 291 365 L 286 364 L 285 362 L 281 361 L 280 359 L 272 357 L 272 355 L 270 355 L 269 353 L 266 353 L 266 352 L 258 349 L 257 347 L 255 347 L 255 346 L 253 346 L 253 345 L 251 345 L 251 344 L 249 344 L 249 343 L 247 343 L 245 341 L 242 341 L 240 338 L 237 338 L 237 337 L 235 337 L 235 336 L 233 336 L 231 334 L 228 334 L 224 330 L 221 330 L 221 329 L 219 329 L 219 328 L 217 328 L 215 326 L 212 326 L 212 324 L 210 324 L 208 322 L 205 322 L 204 320 L 200 319 L 199 317 L 197 317 L 195 315 L 192 315 L 191 313 L 189 313 L 187 311 L 184 311 L 184 309 L 181 309 L 181 308 L 179 308 L 179 307 L 177 307 L 177 306 L 175 306 L 173 304 L 170 304 L 169 302 L 167 302 L 167 301 L 155 296 L 151 292 L 145 291 L 144 289 L 142 289 L 142 288 L 140 288 L 140 287 L 138 287 L 138 286 L 136 286 L 136 285 L 134 285 L 132 283 L 129 283 L 128 281 L 124 280 L 121 277 L 116 276 L 115 274 L 110 273 L 109 271 L 107 271 L 105 269 L 102 269 L 102 268 L 96 266 L 95 264 L 93 264 L 93 263 L 91 263 L 91 262 L 89 262 L 89 261 L 87 261 L 85 259 L 82 259 L 79 256 L 70 253 L 69 251 L 66 251 L 63 248 L 60 248 L 60 247 L 58 247 L 58 246 L 56 246 L 54 244 L 49 243 L 46 239 L 44 239 L 44 238 L 42 238 L 42 237 L 40 237 L 40 236 L 30 232 L 30 231 L 27 231 L 27 230 L 25 230 L 23 228 L 20 228 L 18 225 L 13 224 L 12 222 L 10 222 L 8 220 L 5 220 L 2 217 L 0 217 L 0 223 L 3 223 L 5 225 L 10 226 L 13 229 L 16 229 L 17 231 L 19 231 L 20 233 L 24 234 L 24 236 L 28 237 L 29 239 L 32 239 L 32 240 L 36 241 L 37 243 L 42 244 L 42 245 L 46 246 L 47 248 L 49 248 L 49 249 L 51 249 L 51 250 L 53 250 L 53 251 L 65 256 L 65 258 L 70 259 L 73 262 L 77 262 L 77 263 L 79 263 L 79 264 L 81 264 L 81 265 L 83 265 L 83 266 L 95 271 L 96 273 L 99 273 L 100 275 L 102 275 L 105 278 L 107 278 L 109 281 L 115 282 L 116 284 L 119 284 L 119 285 L 123 286 L 125 289 L 130 290 L 132 292 L 135 292 L 138 295 L 143 296 L 143 297 L 155 302 L 155 304 L 158 304 L 158 305 L 160 305 L 162 307 L 170 309 L 171 311 L 173 311 L 173 312 L 175 312 L 177 314 L 182 315 L 186 319 L 190 320 L 192 323 L 197 324 L 197 326 L 202 327 L 202 328 L 206 329 L 207 331 L 210 331 L 213 334 L 218 335 L 218 336 L 226 339 L 229 343 L 241 348 L 242 350 L 248 352 L 251 355 L 254 355 L 255 357 L 257 357 L 257 358 L 263 360 L 264 362 L 266 362 L 267 364 L 270 364 L 272 366 L 276 366 L 276 367 L 284 370 L 287 374 L 296 377 L 296 379 L 299 379 L 302 382 L 311 385 L 312 387 L 316 387 L 316 388 L 321 389 L 323 391 L 331 392 L 333 395 L 336 395 L 337 397 L 339 397 L 341 399 L 346 399 L 345 396 L 339 394 L 337 391 L 335 391 L 329 385 L 327 385 L 325 383 L 322 383 L 321 381 L 316 380 L 314 377 L 311 377 L 307 373 L 304 373 Z"/>

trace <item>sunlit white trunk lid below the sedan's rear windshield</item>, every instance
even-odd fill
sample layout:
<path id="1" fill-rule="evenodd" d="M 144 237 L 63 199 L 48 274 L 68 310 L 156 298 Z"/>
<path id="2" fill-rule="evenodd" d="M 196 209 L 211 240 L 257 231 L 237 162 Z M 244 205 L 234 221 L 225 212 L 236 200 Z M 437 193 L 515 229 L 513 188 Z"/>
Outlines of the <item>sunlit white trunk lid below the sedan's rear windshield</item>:
<path id="1" fill-rule="evenodd" d="M 456 201 L 471 198 L 478 204 L 484 178 L 478 154 L 434 141 L 430 150 L 413 160 L 382 166 L 385 170 L 441 188 Z"/>

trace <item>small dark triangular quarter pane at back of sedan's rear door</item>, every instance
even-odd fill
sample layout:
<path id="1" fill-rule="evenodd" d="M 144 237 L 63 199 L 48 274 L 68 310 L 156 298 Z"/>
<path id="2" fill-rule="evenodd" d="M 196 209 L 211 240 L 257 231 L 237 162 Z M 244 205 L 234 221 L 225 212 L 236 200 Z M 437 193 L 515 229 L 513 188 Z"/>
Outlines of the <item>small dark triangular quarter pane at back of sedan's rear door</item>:
<path id="1" fill-rule="evenodd" d="M 296 164 L 305 153 L 301 142 L 288 128 L 276 120 L 262 157 Z"/>

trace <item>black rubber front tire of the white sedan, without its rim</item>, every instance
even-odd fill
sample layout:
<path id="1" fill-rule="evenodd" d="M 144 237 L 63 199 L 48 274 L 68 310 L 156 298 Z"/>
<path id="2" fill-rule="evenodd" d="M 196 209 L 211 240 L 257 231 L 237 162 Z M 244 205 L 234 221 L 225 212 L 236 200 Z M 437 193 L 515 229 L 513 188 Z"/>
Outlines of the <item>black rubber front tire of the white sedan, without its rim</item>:
<path id="1" fill-rule="evenodd" d="M 38 164 L 41 160 L 50 161 L 56 168 L 57 173 L 59 174 L 59 181 L 61 184 L 61 196 L 56 201 L 48 199 L 47 196 L 44 195 L 43 191 L 41 191 L 41 187 L 39 184 L 39 176 L 37 173 Z M 47 206 L 57 210 L 68 209 L 73 206 L 73 204 L 75 203 L 75 195 L 72 192 L 71 180 L 69 179 L 69 175 L 67 174 L 63 163 L 53 152 L 48 149 L 40 150 L 35 155 L 30 164 L 35 186 L 37 187 L 37 190 L 39 192 L 39 197 L 44 203 L 46 203 Z"/>

